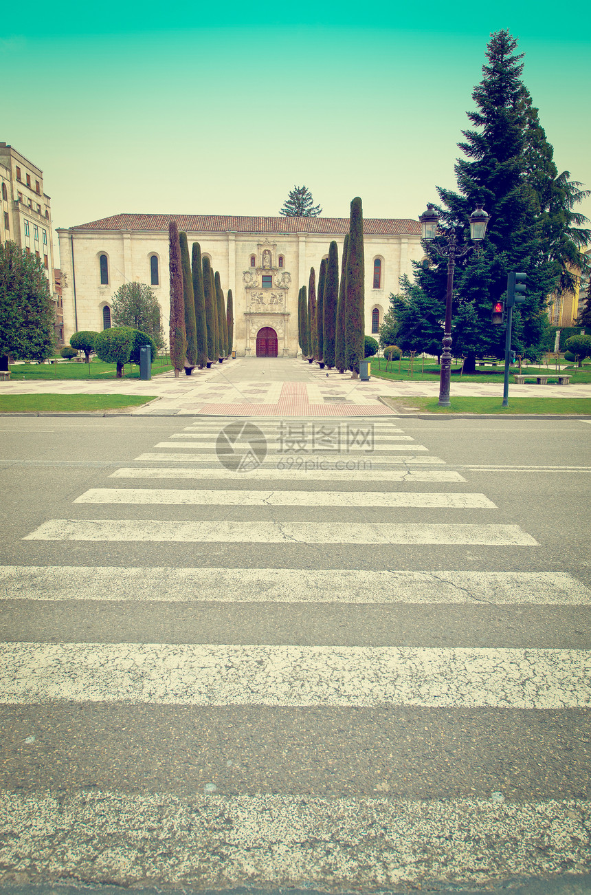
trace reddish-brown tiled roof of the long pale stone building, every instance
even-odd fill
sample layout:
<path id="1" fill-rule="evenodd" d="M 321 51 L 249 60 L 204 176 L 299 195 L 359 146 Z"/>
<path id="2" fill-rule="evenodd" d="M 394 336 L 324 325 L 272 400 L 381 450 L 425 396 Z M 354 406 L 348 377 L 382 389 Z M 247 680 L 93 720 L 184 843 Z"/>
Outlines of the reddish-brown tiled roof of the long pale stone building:
<path id="1" fill-rule="evenodd" d="M 137 215 L 122 214 L 102 217 L 72 230 L 166 231 L 168 222 L 176 220 L 179 230 L 187 233 L 319 233 L 349 232 L 348 217 L 239 217 L 232 215 Z M 420 224 L 395 217 L 366 217 L 363 232 L 372 235 L 420 234 Z"/>

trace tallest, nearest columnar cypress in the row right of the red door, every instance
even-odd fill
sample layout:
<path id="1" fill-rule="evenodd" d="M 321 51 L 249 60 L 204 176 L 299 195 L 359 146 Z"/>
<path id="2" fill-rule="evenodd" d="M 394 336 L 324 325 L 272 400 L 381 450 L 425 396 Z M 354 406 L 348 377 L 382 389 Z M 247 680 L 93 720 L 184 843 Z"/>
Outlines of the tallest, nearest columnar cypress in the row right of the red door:
<path id="1" fill-rule="evenodd" d="M 359 363 L 365 357 L 365 266 L 363 260 L 363 211 L 356 196 L 350 203 L 349 247 L 345 287 L 345 327 L 347 330 L 347 369 L 352 379 L 359 376 Z"/>

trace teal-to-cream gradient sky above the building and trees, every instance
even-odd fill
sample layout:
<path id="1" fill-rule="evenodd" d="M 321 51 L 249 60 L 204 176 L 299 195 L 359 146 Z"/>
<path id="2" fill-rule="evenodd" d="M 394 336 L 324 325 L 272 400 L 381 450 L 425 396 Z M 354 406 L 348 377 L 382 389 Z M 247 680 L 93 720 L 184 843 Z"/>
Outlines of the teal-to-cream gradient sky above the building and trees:
<path id="1" fill-rule="evenodd" d="M 55 227 L 121 212 L 417 218 L 455 185 L 485 47 L 508 29 L 559 170 L 591 189 L 591 4 L 163 4 L 3 11 L 0 140 Z M 591 217 L 591 197 L 578 207 Z"/>

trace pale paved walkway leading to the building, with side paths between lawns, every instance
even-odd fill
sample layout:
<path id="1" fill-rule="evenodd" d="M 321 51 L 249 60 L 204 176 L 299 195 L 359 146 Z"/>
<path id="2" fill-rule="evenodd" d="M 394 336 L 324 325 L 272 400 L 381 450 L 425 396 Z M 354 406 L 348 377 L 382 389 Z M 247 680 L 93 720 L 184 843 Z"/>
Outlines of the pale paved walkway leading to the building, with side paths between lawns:
<path id="1" fill-rule="evenodd" d="M 335 417 L 396 416 L 380 397 L 437 396 L 439 379 L 369 382 L 351 379 L 350 373 L 320 370 L 290 358 L 236 358 L 210 370 L 173 371 L 149 381 L 139 379 L 58 379 L 50 382 L 0 383 L 0 395 L 149 395 L 157 401 L 131 411 L 133 416 L 268 416 Z M 591 397 L 591 385 L 510 386 L 512 397 Z M 499 383 L 452 381 L 452 396 L 502 395 Z"/>

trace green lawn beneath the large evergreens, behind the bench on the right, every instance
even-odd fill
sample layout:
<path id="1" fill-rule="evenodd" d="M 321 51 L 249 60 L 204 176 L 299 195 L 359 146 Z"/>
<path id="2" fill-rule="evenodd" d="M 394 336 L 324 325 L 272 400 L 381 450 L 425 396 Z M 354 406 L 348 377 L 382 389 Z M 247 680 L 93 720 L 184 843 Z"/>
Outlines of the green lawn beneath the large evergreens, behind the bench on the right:
<path id="1" fill-rule="evenodd" d="M 431 358 L 425 359 L 425 364 L 423 370 L 421 371 L 421 361 L 422 359 L 419 357 L 415 358 L 413 364 L 413 375 L 410 376 L 410 362 L 409 359 L 404 357 L 401 360 L 401 363 L 395 361 L 393 363 L 388 364 L 388 372 L 385 371 L 385 360 L 381 358 L 378 362 L 376 358 L 372 358 L 371 361 L 371 374 L 375 376 L 377 379 L 424 379 L 426 381 L 434 381 L 439 377 L 440 368 L 439 366 L 433 362 Z M 400 372 L 399 372 L 400 366 Z M 519 368 L 517 364 L 514 367 L 511 367 L 509 381 L 514 382 L 514 379 L 511 373 L 519 372 Z M 591 382 L 591 363 L 586 363 L 583 367 L 577 367 L 574 363 L 570 364 L 568 368 L 562 367 L 562 373 L 570 373 L 572 378 L 570 379 L 571 384 L 577 385 L 585 385 L 586 383 Z M 552 382 L 557 380 L 558 373 L 556 371 L 555 365 L 550 363 L 547 367 L 544 365 L 540 367 L 522 367 L 521 373 L 526 376 L 532 376 L 534 379 L 531 381 L 535 382 L 535 377 L 538 375 L 548 376 L 549 381 Z M 460 364 L 457 366 L 452 366 L 452 379 L 457 379 L 459 382 L 499 382 L 502 383 L 502 379 L 504 376 L 504 367 L 502 362 L 499 362 L 498 367 L 477 367 L 477 372 L 468 374 L 463 373 L 460 377 Z M 526 382 L 528 379 L 526 379 Z"/>

